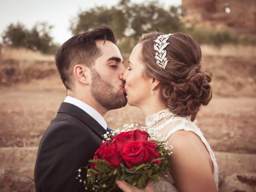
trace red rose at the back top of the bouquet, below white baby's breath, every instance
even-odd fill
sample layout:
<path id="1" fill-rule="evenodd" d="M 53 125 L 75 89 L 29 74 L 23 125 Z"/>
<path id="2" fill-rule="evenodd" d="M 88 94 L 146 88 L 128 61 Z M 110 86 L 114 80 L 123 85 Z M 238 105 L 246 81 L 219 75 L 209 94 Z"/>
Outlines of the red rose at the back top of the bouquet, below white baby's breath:
<path id="1" fill-rule="evenodd" d="M 149 134 L 146 131 L 141 130 L 134 130 L 128 132 L 122 132 L 118 134 L 115 138 L 115 145 L 116 148 L 120 151 L 123 151 L 123 148 L 126 144 L 130 143 L 131 141 L 140 141 L 140 140 L 148 140 Z"/>

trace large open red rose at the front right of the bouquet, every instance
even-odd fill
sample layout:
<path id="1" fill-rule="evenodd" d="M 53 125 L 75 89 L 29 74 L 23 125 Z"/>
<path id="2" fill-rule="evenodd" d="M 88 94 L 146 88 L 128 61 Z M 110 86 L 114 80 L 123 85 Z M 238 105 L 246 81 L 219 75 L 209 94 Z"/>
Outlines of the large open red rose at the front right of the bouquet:
<path id="1" fill-rule="evenodd" d="M 161 155 L 157 152 L 157 146 L 149 141 L 132 141 L 124 146 L 121 157 L 129 168 L 143 163 L 149 163 L 151 160 L 159 158 Z M 161 160 L 154 162 L 160 164 Z"/>

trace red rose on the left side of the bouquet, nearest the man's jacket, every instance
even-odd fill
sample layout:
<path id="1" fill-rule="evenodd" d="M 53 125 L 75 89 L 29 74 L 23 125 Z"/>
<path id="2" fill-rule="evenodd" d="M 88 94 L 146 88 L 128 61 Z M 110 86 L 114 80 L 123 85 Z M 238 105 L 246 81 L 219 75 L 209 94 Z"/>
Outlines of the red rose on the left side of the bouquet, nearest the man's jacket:
<path id="1" fill-rule="evenodd" d="M 107 142 L 101 144 L 100 148 L 95 152 L 94 159 L 102 159 L 112 168 L 119 168 L 121 164 L 121 158 L 119 152 L 116 150 L 113 142 Z M 94 167 L 94 165 L 92 165 Z"/>

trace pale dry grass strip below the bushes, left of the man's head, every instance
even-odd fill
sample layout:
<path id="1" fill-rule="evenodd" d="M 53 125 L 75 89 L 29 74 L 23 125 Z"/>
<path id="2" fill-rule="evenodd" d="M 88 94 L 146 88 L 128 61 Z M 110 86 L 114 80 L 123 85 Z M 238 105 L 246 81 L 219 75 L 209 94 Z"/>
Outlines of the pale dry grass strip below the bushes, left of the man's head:
<path id="1" fill-rule="evenodd" d="M 39 51 L 32 51 L 26 48 L 0 48 L 1 60 L 16 61 L 54 61 L 54 55 L 42 54 Z"/>

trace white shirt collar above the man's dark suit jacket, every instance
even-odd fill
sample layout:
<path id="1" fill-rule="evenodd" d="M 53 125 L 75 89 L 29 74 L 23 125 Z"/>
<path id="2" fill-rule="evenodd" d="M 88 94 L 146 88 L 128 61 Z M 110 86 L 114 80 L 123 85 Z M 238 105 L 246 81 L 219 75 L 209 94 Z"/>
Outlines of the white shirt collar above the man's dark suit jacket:
<path id="1" fill-rule="evenodd" d="M 102 117 L 102 115 L 96 111 L 94 108 L 89 106 L 88 104 L 70 96 L 66 96 L 64 102 L 73 104 L 80 109 L 84 110 L 86 113 L 88 113 L 92 118 L 94 118 L 104 129 L 107 130 L 107 123 Z"/>

